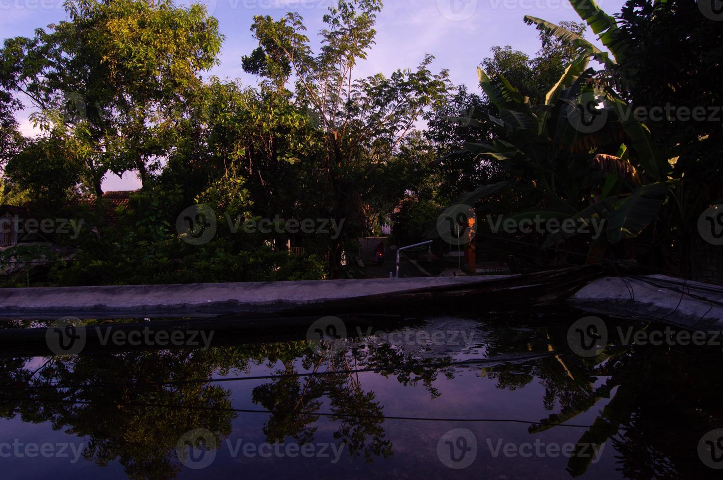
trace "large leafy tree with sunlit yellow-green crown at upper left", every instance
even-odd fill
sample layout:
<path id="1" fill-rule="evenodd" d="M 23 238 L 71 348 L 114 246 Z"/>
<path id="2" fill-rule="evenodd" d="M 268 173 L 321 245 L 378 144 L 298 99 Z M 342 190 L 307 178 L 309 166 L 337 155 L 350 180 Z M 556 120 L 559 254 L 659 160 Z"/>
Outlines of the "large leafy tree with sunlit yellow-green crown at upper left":
<path id="1" fill-rule="evenodd" d="M 78 0 L 66 10 L 69 20 L 48 32 L 6 40 L 0 73 L 30 98 L 36 125 L 83 158 L 82 183 L 98 199 L 108 171 L 137 170 L 147 187 L 199 72 L 216 61 L 218 22 L 169 0 Z"/>

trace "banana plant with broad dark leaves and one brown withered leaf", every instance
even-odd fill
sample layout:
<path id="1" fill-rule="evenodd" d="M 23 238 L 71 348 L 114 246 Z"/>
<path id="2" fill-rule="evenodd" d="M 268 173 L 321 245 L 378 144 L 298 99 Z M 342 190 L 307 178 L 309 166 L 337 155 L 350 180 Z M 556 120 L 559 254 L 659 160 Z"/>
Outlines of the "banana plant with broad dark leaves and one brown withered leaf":
<path id="1" fill-rule="evenodd" d="M 497 115 L 487 115 L 497 138 L 465 148 L 498 162 L 513 180 L 467 193 L 461 198 L 464 203 L 508 188 L 529 193 L 540 201 L 512 218 L 604 219 L 609 244 L 640 235 L 654 220 L 673 186 L 664 168 L 667 162 L 657 156 L 647 128 L 628 115 L 628 105 L 596 81 L 595 71 L 588 68 L 590 58 L 594 55 L 585 52 L 568 65 L 544 105 L 531 105 L 503 75 L 492 80 L 478 69 L 480 86 L 497 108 Z M 572 118 L 586 95 L 600 100 L 596 113 L 605 118 L 588 131 Z M 453 120 L 479 125 L 470 118 Z M 610 154 L 616 144 L 615 154 Z M 572 235 L 548 235 L 544 245 Z"/>

